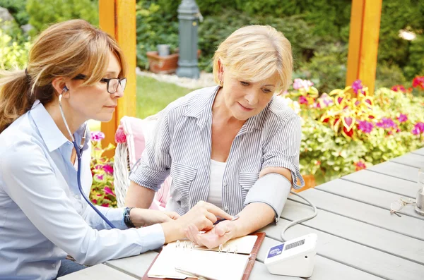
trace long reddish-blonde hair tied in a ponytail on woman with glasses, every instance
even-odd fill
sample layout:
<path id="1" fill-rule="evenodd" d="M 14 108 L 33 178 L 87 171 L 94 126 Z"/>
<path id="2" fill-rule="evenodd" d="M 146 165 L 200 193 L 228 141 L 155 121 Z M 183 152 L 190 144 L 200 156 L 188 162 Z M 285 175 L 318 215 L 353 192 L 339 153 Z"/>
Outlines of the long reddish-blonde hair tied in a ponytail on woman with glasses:
<path id="1" fill-rule="evenodd" d="M 85 20 L 56 23 L 41 32 L 30 49 L 25 71 L 0 72 L 0 133 L 29 111 L 36 99 L 42 104 L 52 102 L 54 78 L 84 73 L 88 78 L 83 86 L 97 83 L 107 71 L 110 51 L 122 66 L 122 78 L 127 66 L 117 42 Z"/>

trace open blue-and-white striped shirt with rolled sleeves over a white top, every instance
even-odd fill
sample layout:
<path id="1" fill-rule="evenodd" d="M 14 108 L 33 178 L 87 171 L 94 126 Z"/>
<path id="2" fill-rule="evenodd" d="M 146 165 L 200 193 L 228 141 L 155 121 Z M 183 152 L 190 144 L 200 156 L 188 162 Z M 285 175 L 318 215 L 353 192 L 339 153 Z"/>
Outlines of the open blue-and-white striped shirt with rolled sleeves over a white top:
<path id="1" fill-rule="evenodd" d="M 140 165 L 130 176 L 131 181 L 155 191 L 167 176 L 172 176 L 167 209 L 179 214 L 208 199 L 212 105 L 218 88 L 195 90 L 169 104 L 160 113 L 154 138 L 146 145 Z M 293 187 L 301 188 L 301 136 L 299 116 L 279 97 L 273 97 L 261 113 L 250 117 L 233 140 L 228 155 L 222 182 L 223 209 L 231 215 L 242 211 L 247 193 L 259 172 L 267 167 L 289 169 Z M 300 185 L 296 183 L 298 179 Z M 261 195 L 258 202 L 283 196 L 266 192 Z"/>

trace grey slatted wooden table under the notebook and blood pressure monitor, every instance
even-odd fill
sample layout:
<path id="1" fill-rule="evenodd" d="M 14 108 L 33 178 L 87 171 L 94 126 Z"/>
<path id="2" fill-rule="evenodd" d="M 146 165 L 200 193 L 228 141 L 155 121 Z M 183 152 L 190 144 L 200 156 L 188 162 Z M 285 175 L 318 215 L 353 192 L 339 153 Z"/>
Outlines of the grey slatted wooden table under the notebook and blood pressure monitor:
<path id="1" fill-rule="evenodd" d="M 424 167 L 424 149 L 391 159 L 318 185 L 300 193 L 318 208 L 310 221 L 293 226 L 286 238 L 317 233 L 314 280 L 423 280 L 424 216 L 408 205 L 401 217 L 389 213 L 401 196 L 416 198 L 418 169 Z M 281 229 L 312 209 L 294 195 L 286 203 L 277 225 L 266 226 L 266 238 L 249 279 L 298 279 L 269 274 L 266 251 L 281 243 Z M 71 279 L 141 279 L 157 252 L 112 260 L 61 277 Z"/>

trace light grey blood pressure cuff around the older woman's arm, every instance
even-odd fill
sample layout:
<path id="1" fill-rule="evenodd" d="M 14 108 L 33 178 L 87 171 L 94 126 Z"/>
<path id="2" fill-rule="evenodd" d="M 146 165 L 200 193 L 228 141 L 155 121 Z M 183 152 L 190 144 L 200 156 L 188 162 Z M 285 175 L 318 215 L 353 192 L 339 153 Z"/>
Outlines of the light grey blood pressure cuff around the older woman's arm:
<path id="1" fill-rule="evenodd" d="M 281 174 L 269 173 L 259 178 L 246 195 L 245 206 L 252 202 L 263 202 L 276 212 L 276 223 L 290 193 L 292 183 Z"/>

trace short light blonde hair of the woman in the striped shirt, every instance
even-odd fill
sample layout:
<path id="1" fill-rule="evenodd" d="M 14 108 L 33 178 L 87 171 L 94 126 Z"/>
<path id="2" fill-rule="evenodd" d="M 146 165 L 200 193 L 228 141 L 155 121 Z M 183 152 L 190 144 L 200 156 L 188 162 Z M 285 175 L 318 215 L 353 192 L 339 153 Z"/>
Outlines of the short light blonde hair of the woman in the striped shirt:
<path id="1" fill-rule="evenodd" d="M 278 89 L 291 83 L 293 56 L 291 44 L 283 33 L 269 25 L 249 25 L 235 30 L 222 42 L 213 56 L 213 77 L 218 78 L 218 60 L 233 78 L 252 83 L 278 75 Z"/>

